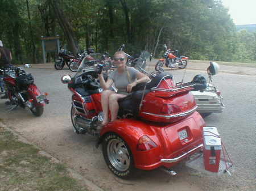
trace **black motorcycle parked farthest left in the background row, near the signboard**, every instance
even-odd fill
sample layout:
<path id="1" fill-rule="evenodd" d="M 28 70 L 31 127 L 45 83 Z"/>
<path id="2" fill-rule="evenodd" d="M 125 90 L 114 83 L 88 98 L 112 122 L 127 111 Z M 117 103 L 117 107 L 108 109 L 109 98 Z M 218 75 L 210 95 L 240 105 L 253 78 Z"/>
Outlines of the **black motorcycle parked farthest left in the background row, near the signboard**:
<path id="1" fill-rule="evenodd" d="M 65 64 L 69 67 L 71 59 L 75 59 L 71 52 L 68 52 L 65 49 L 61 49 L 58 53 L 59 58 L 55 60 L 54 67 L 56 70 L 62 70 Z"/>

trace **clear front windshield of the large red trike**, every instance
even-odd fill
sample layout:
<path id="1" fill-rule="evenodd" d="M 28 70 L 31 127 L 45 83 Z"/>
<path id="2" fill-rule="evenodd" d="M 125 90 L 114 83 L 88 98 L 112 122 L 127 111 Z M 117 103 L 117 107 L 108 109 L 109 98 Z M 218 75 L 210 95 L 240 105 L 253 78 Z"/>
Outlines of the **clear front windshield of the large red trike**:
<path id="1" fill-rule="evenodd" d="M 101 54 L 101 53 L 88 54 L 87 56 L 84 57 L 84 59 L 82 59 L 79 69 L 77 70 L 77 73 L 75 74 L 74 77 L 77 77 L 82 73 L 85 73 L 86 71 L 95 70 L 95 66 L 104 60 L 105 60 L 105 54 Z"/>

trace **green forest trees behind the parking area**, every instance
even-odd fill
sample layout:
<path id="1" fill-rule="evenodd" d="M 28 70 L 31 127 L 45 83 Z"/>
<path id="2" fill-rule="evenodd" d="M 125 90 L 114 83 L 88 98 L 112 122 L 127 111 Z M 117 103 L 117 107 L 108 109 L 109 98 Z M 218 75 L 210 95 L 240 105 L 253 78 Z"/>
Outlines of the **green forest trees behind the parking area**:
<path id="1" fill-rule="evenodd" d="M 161 57 L 167 44 L 192 60 L 256 65 L 256 32 L 237 31 L 220 0 L 1 0 L 0 10 L 0 40 L 13 63 L 42 63 L 41 37 L 59 35 L 75 54 L 126 44 L 129 54 Z"/>

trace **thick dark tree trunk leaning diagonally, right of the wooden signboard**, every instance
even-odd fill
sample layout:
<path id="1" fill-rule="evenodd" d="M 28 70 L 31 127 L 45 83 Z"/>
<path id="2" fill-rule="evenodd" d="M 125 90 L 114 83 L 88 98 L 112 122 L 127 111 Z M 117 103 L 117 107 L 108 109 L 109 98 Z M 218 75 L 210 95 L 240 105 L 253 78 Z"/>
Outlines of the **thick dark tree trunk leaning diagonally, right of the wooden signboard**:
<path id="1" fill-rule="evenodd" d="M 64 15 L 63 10 L 60 9 L 59 0 L 51 0 L 51 5 L 59 21 L 60 27 L 63 29 L 64 35 L 67 38 L 69 47 L 72 49 L 73 54 L 76 55 L 79 50 L 71 23 L 69 23 L 68 19 Z"/>

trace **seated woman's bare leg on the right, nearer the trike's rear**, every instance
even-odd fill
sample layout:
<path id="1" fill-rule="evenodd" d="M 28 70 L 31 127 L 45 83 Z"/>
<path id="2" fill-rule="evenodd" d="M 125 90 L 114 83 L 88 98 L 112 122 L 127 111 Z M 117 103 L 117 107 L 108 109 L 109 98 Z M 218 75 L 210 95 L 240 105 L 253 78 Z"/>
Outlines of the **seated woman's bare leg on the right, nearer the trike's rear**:
<path id="1" fill-rule="evenodd" d="M 111 94 L 109 96 L 109 109 L 110 109 L 110 113 L 111 113 L 111 121 L 114 121 L 117 119 L 117 114 L 118 114 L 118 109 L 119 109 L 119 105 L 118 105 L 118 99 L 121 99 L 123 97 L 126 97 L 127 95 L 123 95 L 123 94 Z"/>

